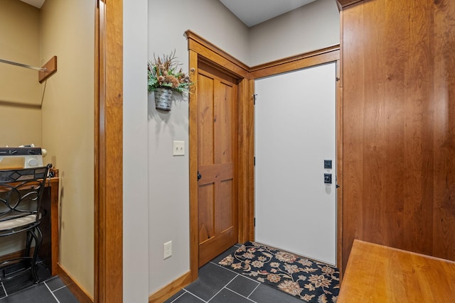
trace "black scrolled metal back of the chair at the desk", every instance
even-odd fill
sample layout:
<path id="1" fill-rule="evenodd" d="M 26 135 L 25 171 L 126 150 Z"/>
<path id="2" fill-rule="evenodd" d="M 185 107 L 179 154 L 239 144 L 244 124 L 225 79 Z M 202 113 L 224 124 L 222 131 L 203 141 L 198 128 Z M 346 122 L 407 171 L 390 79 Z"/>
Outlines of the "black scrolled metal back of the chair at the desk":
<path id="1" fill-rule="evenodd" d="M 52 165 L 14 170 L 0 170 L 0 222 L 18 219 L 41 219 L 41 199 L 45 178 Z"/>

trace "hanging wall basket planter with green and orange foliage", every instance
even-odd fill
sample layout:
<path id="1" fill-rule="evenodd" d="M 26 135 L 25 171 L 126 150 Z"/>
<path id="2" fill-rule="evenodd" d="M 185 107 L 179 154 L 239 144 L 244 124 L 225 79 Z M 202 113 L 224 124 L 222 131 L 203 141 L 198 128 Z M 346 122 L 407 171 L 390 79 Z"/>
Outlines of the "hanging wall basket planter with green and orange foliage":
<path id="1" fill-rule="evenodd" d="M 149 61 L 148 67 L 148 84 L 149 94 L 155 93 L 155 107 L 164 111 L 171 110 L 172 94 L 178 92 L 188 92 L 193 82 L 190 74 L 186 74 L 182 69 L 178 70 L 180 65 L 176 59 L 176 51 L 170 55 L 156 58 Z M 191 69 L 191 73 L 194 69 Z"/>

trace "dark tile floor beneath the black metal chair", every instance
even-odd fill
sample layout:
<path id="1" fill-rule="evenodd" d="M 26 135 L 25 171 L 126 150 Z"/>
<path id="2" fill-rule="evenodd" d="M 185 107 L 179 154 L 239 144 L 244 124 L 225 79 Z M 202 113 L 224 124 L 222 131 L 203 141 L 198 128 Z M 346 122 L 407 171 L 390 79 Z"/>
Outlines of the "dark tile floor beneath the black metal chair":
<path id="1" fill-rule="evenodd" d="M 38 277 L 35 284 L 31 275 L 0 283 L 0 303 L 79 303 L 60 277 L 50 276 L 42 263 L 38 264 Z"/>

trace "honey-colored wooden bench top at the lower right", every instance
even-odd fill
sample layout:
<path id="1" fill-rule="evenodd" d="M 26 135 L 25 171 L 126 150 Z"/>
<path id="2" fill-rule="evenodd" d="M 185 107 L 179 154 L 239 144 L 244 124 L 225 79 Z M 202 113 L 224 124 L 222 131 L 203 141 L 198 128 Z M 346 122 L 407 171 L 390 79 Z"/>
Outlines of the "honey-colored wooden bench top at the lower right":
<path id="1" fill-rule="evenodd" d="M 454 302 L 455 262 L 355 240 L 338 303 Z"/>

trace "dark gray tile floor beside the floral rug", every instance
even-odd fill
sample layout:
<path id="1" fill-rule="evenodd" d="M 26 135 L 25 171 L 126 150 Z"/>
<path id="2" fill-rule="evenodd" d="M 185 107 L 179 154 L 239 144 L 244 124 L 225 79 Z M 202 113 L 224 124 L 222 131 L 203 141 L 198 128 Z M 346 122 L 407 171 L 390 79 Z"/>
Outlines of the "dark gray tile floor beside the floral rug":
<path id="1" fill-rule="evenodd" d="M 234 246 L 199 269 L 199 278 L 173 295 L 166 303 L 301 303 L 302 301 L 218 265 L 233 253 Z"/>

